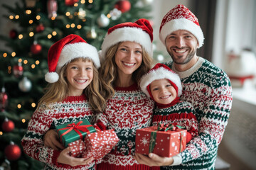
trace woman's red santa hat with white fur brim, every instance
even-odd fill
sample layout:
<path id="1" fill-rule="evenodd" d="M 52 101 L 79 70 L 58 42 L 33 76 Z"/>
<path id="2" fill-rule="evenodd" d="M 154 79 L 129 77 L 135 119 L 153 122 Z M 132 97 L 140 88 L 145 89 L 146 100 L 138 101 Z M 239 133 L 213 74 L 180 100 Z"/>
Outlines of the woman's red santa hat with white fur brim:
<path id="1" fill-rule="evenodd" d="M 112 45 L 116 45 L 118 42 L 123 41 L 139 43 L 142 45 L 144 50 L 153 57 L 153 28 L 148 20 L 142 18 L 134 23 L 120 23 L 110 28 L 102 42 L 102 50 L 100 52 L 102 60 L 105 59 L 106 52 L 110 47 L 112 47 Z"/>

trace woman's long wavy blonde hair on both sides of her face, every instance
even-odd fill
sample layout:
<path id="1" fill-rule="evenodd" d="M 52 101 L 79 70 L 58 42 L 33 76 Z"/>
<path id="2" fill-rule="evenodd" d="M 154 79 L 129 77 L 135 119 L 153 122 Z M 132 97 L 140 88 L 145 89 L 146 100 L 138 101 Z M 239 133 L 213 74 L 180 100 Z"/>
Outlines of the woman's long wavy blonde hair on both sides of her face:
<path id="1" fill-rule="evenodd" d="M 100 81 L 102 85 L 100 86 L 100 92 L 106 100 L 114 95 L 114 81 L 118 76 L 117 64 L 114 61 L 114 55 L 121 43 L 122 42 L 119 42 L 107 50 L 105 60 L 102 62 L 102 65 L 99 69 Z M 132 79 L 137 82 L 137 84 L 139 84 L 142 76 L 149 72 L 149 69 L 151 69 L 152 61 L 152 58 L 142 47 L 142 64 L 132 74 Z"/>

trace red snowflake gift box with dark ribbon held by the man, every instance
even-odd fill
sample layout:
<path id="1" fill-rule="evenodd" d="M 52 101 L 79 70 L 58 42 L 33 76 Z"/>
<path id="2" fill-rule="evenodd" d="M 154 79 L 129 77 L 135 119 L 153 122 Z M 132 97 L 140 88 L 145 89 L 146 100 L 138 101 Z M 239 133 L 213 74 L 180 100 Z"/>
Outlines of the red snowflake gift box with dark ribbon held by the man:
<path id="1" fill-rule="evenodd" d="M 176 125 L 159 125 L 136 131 L 135 152 L 154 153 L 160 157 L 174 157 L 186 148 L 186 133 Z"/>

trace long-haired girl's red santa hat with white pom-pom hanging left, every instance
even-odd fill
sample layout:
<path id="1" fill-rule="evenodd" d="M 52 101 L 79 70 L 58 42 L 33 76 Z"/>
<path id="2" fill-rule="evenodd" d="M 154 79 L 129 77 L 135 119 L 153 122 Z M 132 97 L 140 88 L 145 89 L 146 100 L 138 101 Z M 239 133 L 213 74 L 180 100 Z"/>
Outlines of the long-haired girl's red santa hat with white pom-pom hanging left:
<path id="1" fill-rule="evenodd" d="M 89 58 L 94 62 L 95 67 L 100 67 L 100 59 L 97 49 L 87 44 L 79 35 L 70 34 L 65 38 L 55 42 L 48 51 L 49 72 L 46 73 L 45 79 L 48 83 L 58 81 L 58 72 L 65 64 L 79 57 Z"/>

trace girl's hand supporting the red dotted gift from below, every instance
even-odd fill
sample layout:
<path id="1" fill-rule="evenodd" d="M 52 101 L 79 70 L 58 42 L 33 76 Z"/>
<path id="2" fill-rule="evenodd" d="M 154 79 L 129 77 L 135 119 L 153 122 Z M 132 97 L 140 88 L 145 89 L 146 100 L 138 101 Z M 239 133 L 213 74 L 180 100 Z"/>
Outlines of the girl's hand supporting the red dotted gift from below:
<path id="1" fill-rule="evenodd" d="M 68 164 L 70 166 L 78 166 L 89 164 L 94 160 L 93 157 L 90 157 L 88 159 L 71 157 L 69 152 L 70 147 L 67 147 L 62 152 L 60 152 L 60 155 L 57 158 L 57 162 L 61 164 Z"/>

